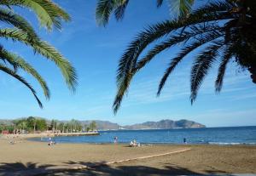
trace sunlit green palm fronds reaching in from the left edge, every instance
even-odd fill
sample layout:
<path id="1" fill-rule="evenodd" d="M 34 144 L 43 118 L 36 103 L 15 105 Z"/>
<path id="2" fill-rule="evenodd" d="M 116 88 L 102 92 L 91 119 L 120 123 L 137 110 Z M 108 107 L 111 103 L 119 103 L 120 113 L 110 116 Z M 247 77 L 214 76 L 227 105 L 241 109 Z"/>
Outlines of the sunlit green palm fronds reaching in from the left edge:
<path id="1" fill-rule="evenodd" d="M 54 47 L 41 40 L 24 17 L 15 13 L 13 7 L 16 6 L 32 10 L 37 15 L 40 26 L 44 26 L 48 31 L 51 31 L 53 26 L 61 29 L 61 20 L 69 21 L 69 15 L 50 0 L 1 0 L 0 23 L 2 25 L 0 27 L 0 37 L 12 40 L 13 42 L 24 43 L 28 47 L 31 47 L 35 54 L 41 54 L 46 59 L 53 61 L 60 68 L 68 88 L 75 90 L 77 76 L 73 66 Z M 38 105 L 42 108 L 43 105 L 38 99 L 35 89 L 26 82 L 25 78 L 17 73 L 18 69 L 32 75 L 43 88 L 46 99 L 49 99 L 49 88 L 38 71 L 18 54 L 5 49 L 0 43 L 0 71 L 7 73 L 11 77 L 15 77 L 15 79 L 29 88 L 37 99 Z"/>

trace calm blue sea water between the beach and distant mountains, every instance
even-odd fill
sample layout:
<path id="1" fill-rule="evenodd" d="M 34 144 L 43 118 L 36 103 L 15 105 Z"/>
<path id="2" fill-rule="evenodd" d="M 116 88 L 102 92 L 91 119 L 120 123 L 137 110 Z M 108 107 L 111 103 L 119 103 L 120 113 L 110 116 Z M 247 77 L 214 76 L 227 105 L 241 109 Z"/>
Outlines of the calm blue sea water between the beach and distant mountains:
<path id="1" fill-rule="evenodd" d="M 54 140 L 57 143 L 113 143 L 113 138 L 117 136 L 119 143 L 127 144 L 133 139 L 142 144 L 183 144 L 183 138 L 186 138 L 189 144 L 256 145 L 256 127 L 118 130 L 100 133 L 98 136 L 55 137 Z M 47 138 L 32 140 L 48 141 Z"/>

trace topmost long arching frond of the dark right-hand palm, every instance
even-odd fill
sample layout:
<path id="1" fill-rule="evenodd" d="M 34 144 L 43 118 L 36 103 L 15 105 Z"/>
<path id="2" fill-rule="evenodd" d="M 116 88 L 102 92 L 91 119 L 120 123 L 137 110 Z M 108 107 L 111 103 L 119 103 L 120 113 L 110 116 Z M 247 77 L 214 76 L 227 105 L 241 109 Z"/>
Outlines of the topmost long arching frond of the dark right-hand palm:
<path id="1" fill-rule="evenodd" d="M 122 55 L 119 61 L 119 68 L 118 68 L 118 76 L 117 80 L 120 77 L 123 77 L 124 71 L 126 71 L 126 67 L 128 63 L 137 63 L 138 56 L 143 52 L 143 50 L 150 44 L 153 43 L 155 40 L 159 39 L 160 37 L 165 37 L 166 35 L 170 34 L 173 31 L 177 31 L 184 26 L 195 26 L 195 24 L 201 24 L 204 22 L 209 23 L 210 21 L 214 20 L 227 20 L 232 18 L 230 14 L 207 14 L 211 9 L 216 9 L 216 6 L 220 5 L 219 3 L 211 3 L 205 9 L 198 9 L 196 14 L 190 14 L 188 18 L 185 20 L 166 20 L 164 22 L 155 24 L 153 26 L 148 26 L 145 31 L 139 33 L 135 40 L 131 42 L 128 48 L 125 50 L 125 54 Z M 226 9 L 227 5 L 224 4 L 223 7 L 220 6 L 220 9 Z M 119 81 L 118 81 L 119 82 Z"/>

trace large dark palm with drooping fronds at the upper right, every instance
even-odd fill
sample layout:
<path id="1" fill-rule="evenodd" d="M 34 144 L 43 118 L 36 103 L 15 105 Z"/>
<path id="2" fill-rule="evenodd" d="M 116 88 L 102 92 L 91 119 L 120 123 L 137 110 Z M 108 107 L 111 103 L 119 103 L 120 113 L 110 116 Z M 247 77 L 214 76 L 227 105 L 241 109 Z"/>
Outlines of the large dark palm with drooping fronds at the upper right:
<path id="1" fill-rule="evenodd" d="M 139 59 L 145 48 L 160 38 L 163 41 L 154 45 Z M 225 0 L 207 3 L 192 11 L 186 18 L 166 20 L 140 32 L 119 60 L 114 113 L 119 110 L 123 96 L 137 71 L 153 60 L 154 56 L 177 44 L 183 48 L 170 60 L 160 80 L 158 95 L 175 67 L 186 55 L 198 48 L 201 51 L 196 55 L 191 70 L 191 104 L 196 99 L 203 79 L 216 61 L 219 61 L 216 92 L 220 92 L 222 88 L 225 69 L 230 60 L 235 60 L 241 68 L 250 71 L 252 80 L 256 83 L 256 1 Z"/>

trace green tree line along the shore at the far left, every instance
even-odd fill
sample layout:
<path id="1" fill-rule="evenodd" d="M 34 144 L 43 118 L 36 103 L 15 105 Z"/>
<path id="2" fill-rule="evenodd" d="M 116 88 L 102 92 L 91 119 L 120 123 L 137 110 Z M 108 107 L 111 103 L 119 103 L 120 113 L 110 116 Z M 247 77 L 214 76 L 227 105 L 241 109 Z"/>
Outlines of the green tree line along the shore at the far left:
<path id="1" fill-rule="evenodd" d="M 96 128 L 95 121 L 82 125 L 75 119 L 68 122 L 61 122 L 55 119 L 48 121 L 45 118 L 36 116 L 28 116 L 9 122 L 0 122 L 0 133 L 2 134 L 30 134 L 31 136 L 37 133 L 41 133 L 42 135 L 50 135 L 50 133 L 55 135 L 60 133 L 66 133 L 66 135 L 70 133 L 72 135 L 72 133 L 75 133 L 78 135 L 84 132 L 92 134 L 96 132 Z"/>

